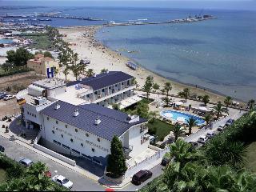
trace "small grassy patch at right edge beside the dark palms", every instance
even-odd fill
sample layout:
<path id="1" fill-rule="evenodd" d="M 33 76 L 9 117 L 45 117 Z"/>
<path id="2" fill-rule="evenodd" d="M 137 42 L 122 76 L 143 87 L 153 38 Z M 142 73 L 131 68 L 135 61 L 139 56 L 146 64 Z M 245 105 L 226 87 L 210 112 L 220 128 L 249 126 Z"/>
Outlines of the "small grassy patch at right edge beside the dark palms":
<path id="1" fill-rule="evenodd" d="M 246 152 L 246 163 L 245 163 L 245 167 L 248 170 L 253 171 L 254 173 L 256 173 L 256 142 L 252 142 L 250 143 L 250 145 L 247 148 L 247 152 Z"/>

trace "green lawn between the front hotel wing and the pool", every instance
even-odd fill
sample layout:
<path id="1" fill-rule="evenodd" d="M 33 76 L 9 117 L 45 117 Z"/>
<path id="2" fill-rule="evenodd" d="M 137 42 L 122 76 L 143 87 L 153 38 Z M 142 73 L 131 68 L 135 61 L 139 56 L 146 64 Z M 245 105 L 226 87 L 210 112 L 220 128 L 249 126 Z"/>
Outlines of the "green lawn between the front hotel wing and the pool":
<path id="1" fill-rule="evenodd" d="M 166 122 L 162 122 L 158 119 L 154 119 L 153 122 L 149 122 L 148 124 L 149 132 L 155 132 L 157 136 L 157 142 L 162 141 L 167 134 L 170 134 L 170 131 L 173 130 L 174 126 L 170 125 Z"/>

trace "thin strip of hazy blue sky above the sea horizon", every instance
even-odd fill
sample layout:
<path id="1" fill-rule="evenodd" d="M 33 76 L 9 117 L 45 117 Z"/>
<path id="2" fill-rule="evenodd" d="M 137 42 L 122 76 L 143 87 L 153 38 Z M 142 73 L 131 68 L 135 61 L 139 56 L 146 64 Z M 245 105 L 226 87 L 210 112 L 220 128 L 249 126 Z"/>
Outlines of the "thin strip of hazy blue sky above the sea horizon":
<path id="1" fill-rule="evenodd" d="M 170 7 L 170 8 L 203 8 L 225 10 L 256 10 L 256 0 L 0 0 L 1 6 L 133 6 L 133 7 Z"/>

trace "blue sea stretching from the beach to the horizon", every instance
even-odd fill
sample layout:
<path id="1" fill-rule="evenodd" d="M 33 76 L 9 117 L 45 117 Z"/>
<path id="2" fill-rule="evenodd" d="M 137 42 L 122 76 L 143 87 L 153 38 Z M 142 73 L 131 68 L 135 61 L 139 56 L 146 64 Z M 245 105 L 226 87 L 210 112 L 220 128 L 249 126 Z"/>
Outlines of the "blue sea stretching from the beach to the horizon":
<path id="1" fill-rule="evenodd" d="M 0 15 L 53 13 L 100 18 L 81 21 L 52 18 L 50 26 L 88 26 L 114 22 L 166 22 L 211 14 L 203 22 L 102 27 L 98 41 L 138 65 L 176 82 L 230 95 L 238 101 L 256 99 L 256 12 L 127 7 L 3 6 Z"/>

